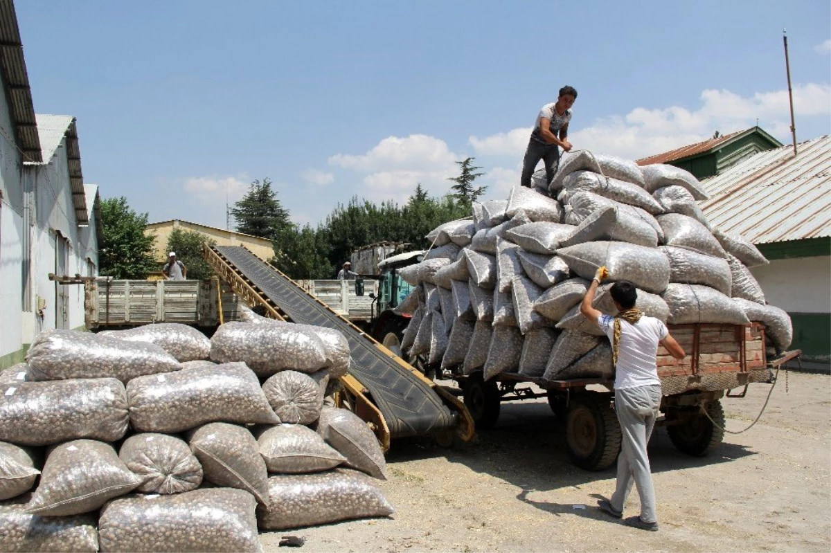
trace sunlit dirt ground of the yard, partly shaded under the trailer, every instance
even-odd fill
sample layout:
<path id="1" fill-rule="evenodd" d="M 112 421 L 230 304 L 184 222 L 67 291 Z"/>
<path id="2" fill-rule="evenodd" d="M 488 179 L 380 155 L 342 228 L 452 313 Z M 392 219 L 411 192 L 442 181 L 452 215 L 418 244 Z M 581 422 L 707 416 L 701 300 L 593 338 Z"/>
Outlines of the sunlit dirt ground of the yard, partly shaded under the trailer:
<path id="1" fill-rule="evenodd" d="M 503 404 L 499 424 L 475 443 L 442 449 L 399 440 L 382 482 L 389 519 L 262 535 L 306 538 L 299 551 L 829 551 L 831 375 L 784 373 L 760 423 L 728 434 L 707 458 L 679 453 L 659 429 L 649 447 L 658 532 L 640 531 L 595 506 L 614 487 L 614 467 L 568 462 L 563 423 L 545 399 Z M 722 399 L 727 428 L 759 414 L 768 384 Z M 625 516 L 637 515 L 637 492 Z"/>

